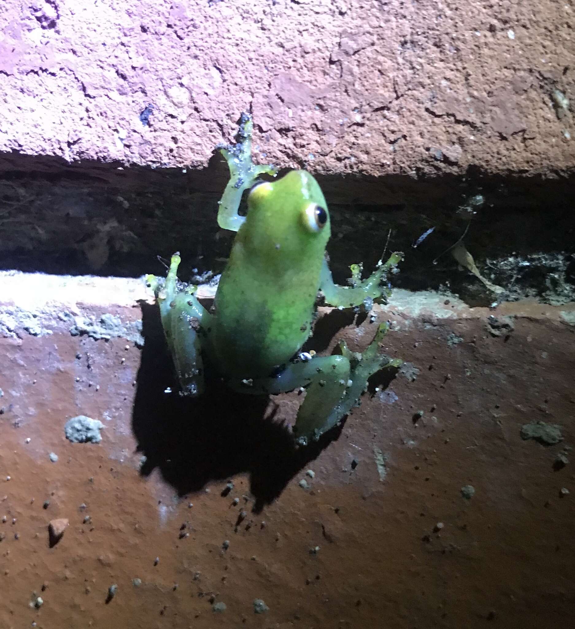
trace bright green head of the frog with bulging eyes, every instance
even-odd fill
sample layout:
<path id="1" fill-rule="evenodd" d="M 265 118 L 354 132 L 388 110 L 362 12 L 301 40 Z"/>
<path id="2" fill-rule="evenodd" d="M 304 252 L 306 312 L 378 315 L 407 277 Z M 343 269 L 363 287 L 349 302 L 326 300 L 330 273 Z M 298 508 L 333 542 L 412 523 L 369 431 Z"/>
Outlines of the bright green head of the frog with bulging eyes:
<path id="1" fill-rule="evenodd" d="M 255 255 L 290 264 L 322 260 L 330 235 L 326 199 L 306 170 L 256 184 L 248 196 L 244 242 Z M 277 253 L 273 253 L 273 252 Z"/>

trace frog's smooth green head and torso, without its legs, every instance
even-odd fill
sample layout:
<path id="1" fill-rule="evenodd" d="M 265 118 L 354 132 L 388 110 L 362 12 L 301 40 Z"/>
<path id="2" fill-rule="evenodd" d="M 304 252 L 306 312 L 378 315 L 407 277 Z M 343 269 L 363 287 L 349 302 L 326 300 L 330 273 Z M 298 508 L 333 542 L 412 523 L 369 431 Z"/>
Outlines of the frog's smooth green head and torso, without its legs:
<path id="1" fill-rule="evenodd" d="M 219 370 L 242 379 L 269 376 L 309 337 L 329 238 L 325 199 L 305 171 L 260 184 L 248 202 L 217 289 L 211 330 Z M 314 230 L 305 220 L 317 207 L 325 220 Z"/>

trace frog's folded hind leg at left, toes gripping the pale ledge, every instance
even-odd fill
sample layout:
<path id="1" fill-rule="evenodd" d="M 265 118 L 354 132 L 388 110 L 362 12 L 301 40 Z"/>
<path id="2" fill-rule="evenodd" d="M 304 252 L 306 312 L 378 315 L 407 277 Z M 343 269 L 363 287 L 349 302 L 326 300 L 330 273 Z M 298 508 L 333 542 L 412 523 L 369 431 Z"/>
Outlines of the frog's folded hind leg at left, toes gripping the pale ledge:
<path id="1" fill-rule="evenodd" d="M 162 327 L 182 395 L 197 396 L 204 391 L 204 369 L 201 355 L 202 335 L 209 328 L 211 315 L 194 295 L 195 286 L 178 282 L 179 253 L 172 255 L 165 280 L 147 276 L 160 306 Z"/>

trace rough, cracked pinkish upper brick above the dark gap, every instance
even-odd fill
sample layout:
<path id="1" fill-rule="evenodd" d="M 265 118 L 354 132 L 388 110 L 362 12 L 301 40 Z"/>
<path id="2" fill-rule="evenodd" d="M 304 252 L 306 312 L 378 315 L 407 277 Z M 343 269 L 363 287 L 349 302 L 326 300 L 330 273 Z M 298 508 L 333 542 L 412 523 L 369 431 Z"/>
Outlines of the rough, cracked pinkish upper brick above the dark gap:
<path id="1" fill-rule="evenodd" d="M 572 172 L 572 4 L 4 0 L 0 150 L 201 168 L 243 109 L 315 172 Z"/>

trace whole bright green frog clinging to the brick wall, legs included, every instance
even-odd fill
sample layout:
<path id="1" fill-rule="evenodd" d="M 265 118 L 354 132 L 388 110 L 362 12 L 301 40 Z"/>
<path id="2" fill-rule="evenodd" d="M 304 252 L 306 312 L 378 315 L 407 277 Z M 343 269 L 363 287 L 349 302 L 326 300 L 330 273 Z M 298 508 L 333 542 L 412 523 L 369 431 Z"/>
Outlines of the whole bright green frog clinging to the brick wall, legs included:
<path id="1" fill-rule="evenodd" d="M 402 253 L 392 253 L 362 281 L 361 265 L 352 265 L 350 286 L 332 279 L 326 256 L 331 221 L 317 181 L 305 170 L 292 170 L 275 181 L 271 165 L 251 158 L 252 120 L 242 114 L 235 145 L 220 145 L 230 181 L 219 204 L 218 225 L 236 231 L 210 311 L 195 296 L 197 286 L 177 277 L 174 253 L 165 279 L 148 276 L 160 307 L 162 325 L 180 382 L 181 394 L 204 391 L 204 361 L 231 389 L 268 395 L 300 389 L 304 395 L 293 433 L 297 443 L 313 442 L 339 424 L 358 405 L 368 378 L 402 361 L 378 352 L 388 330 L 378 325 L 363 353 L 339 343 L 331 356 L 302 352 L 312 333 L 318 295 L 336 308 L 371 309 L 389 296 L 387 276 Z M 239 206 L 248 191 L 248 211 Z"/>

